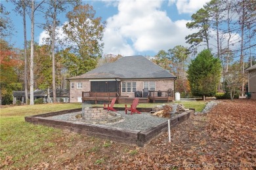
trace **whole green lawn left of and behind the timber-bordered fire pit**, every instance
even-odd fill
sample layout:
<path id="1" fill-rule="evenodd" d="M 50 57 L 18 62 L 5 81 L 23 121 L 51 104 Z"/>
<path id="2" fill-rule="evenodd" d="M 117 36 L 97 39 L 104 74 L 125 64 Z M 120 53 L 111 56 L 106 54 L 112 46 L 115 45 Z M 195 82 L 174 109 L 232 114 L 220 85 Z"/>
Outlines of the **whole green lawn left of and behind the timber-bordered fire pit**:
<path id="1" fill-rule="evenodd" d="M 200 111 L 205 102 L 179 102 L 186 108 Z M 140 104 L 139 107 L 154 107 L 160 103 Z M 123 104 L 115 107 L 124 107 Z M 25 116 L 43 114 L 59 110 L 81 108 L 81 103 L 24 105 L 0 109 L 0 169 L 30 167 L 43 161 L 51 162 L 51 156 L 60 154 L 63 147 L 70 147 L 74 141 L 93 140 L 74 133 L 67 135 L 64 131 L 47 126 L 35 126 L 25 122 Z M 58 144 L 62 142 L 62 146 Z M 100 140 L 99 140 L 100 141 Z M 101 140 L 102 141 L 102 140 Z M 58 144 L 58 145 L 57 145 Z M 103 146 L 102 146 L 103 147 Z M 89 148 L 91 149 L 91 148 Z"/>

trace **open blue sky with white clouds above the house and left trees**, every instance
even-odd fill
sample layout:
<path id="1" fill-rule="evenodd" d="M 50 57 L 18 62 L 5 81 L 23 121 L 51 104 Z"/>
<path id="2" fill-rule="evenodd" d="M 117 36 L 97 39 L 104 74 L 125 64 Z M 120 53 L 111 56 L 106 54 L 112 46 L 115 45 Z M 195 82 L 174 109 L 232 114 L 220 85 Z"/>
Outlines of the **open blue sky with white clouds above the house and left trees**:
<path id="1" fill-rule="evenodd" d="M 104 54 L 123 56 L 154 56 L 159 50 L 168 50 L 177 45 L 188 46 L 184 37 L 194 30 L 186 28 L 190 16 L 209 0 L 169 0 L 169 1 L 83 1 L 93 5 L 96 16 L 106 21 L 104 32 Z M 12 9 L 12 3 L 1 3 L 11 12 L 14 35 L 11 42 L 23 47 L 22 17 Z M 71 8 L 70 8 L 71 10 Z M 61 24 L 66 21 L 65 14 L 58 14 Z M 35 16 L 37 23 L 44 22 L 42 14 Z M 35 26 L 35 41 L 42 44 L 45 32 L 39 24 Z M 61 38 L 61 35 L 60 35 Z M 27 39 L 30 40 L 30 18 L 27 18 Z"/>

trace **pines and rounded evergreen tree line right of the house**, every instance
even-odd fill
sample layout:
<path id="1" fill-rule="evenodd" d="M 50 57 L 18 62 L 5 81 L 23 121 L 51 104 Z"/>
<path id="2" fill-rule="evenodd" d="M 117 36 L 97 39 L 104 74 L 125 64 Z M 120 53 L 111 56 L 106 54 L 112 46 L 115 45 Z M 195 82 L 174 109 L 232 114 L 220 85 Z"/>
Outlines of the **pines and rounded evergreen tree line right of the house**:
<path id="1" fill-rule="evenodd" d="M 256 63 L 255 8 L 256 2 L 253 0 L 211 0 L 192 14 L 191 22 L 186 24 L 187 28 L 194 31 L 185 37 L 188 47 L 175 46 L 167 51 L 158 52 L 155 57 L 156 63 L 178 77 L 175 89 L 182 92 L 182 97 L 191 93 L 213 95 L 216 92 L 228 92 L 231 98 L 234 97 L 234 93 L 244 95 L 247 81 L 245 69 Z M 205 52 L 202 49 L 209 51 Z M 211 78 L 215 76 L 217 79 L 213 78 L 210 84 L 218 84 L 217 90 L 213 88 L 211 92 L 207 92 L 210 88 L 206 88 L 210 87 L 206 85 L 209 84 L 209 78 L 206 78 L 209 75 L 198 75 L 207 71 L 200 63 L 204 60 L 203 64 L 209 65 L 209 61 L 205 60 L 209 55 L 221 61 L 221 68 L 218 62 L 213 65 L 221 69 L 221 75 L 211 75 Z M 197 71 L 192 71 L 192 67 L 197 67 Z M 198 80 L 200 76 L 204 78 Z M 194 80 L 197 80 L 197 83 Z M 201 88 L 201 92 L 199 93 L 196 88 Z"/>

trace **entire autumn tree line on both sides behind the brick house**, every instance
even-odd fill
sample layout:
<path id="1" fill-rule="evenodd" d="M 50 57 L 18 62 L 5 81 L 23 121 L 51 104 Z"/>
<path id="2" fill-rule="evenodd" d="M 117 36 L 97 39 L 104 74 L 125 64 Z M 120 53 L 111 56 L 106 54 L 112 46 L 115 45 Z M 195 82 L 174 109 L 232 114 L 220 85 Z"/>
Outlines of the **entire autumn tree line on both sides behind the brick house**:
<path id="1" fill-rule="evenodd" d="M 13 25 L 10 22 L 9 11 L 0 4 L 0 103 L 11 103 L 12 90 L 25 90 L 26 102 L 28 102 L 28 90 L 30 90 L 30 105 L 33 105 L 33 90 L 36 88 L 47 89 L 48 92 L 50 88 L 53 89 L 55 103 L 56 88 L 69 86 L 66 78 L 81 75 L 102 63 L 121 58 L 121 55 L 112 54 L 102 56 L 104 48 L 102 37 L 107 24 L 102 18 L 95 16 L 96 12 L 91 5 L 82 5 L 80 0 L 11 0 L 11 3 L 16 7 L 15 12 L 23 19 L 24 48 L 16 49 L 7 41 L 8 37 L 12 37 Z M 189 71 L 190 65 L 200 63 L 198 58 L 206 62 L 207 56 L 220 61 L 216 61 L 213 65 L 221 69 L 220 75 L 207 78 L 207 80 L 215 79 L 213 81 L 218 84 L 218 91 L 224 90 L 224 86 L 227 87 L 225 84 L 228 80 L 234 80 L 230 75 L 236 75 L 235 73 L 239 73 L 241 75 L 239 77 L 242 77 L 236 83 L 239 84 L 236 85 L 236 91 L 241 86 L 243 91 L 246 82 L 245 69 L 255 63 L 255 3 L 253 0 L 212 0 L 206 3 L 202 9 L 192 14 L 191 22 L 186 24 L 188 29 L 194 31 L 186 35 L 187 47 L 177 44 L 169 50 L 160 50 L 156 56 L 148 57 L 177 76 L 175 90 L 182 92 L 183 97 L 191 94 L 212 95 L 213 92 L 195 92 L 193 86 L 195 83 L 191 79 L 193 76 L 189 75 L 192 73 L 191 70 Z M 67 22 L 61 27 L 66 37 L 58 39 L 60 31 L 57 31 L 57 27 L 60 27 L 61 13 L 66 14 Z M 41 46 L 34 42 L 33 35 L 35 22 L 39 22 L 36 18 L 37 14 L 44 16 L 45 22 L 40 23 L 39 26 L 43 27 L 48 35 L 43 40 L 44 45 Z M 29 16 L 30 21 L 26 21 L 26 16 Z M 26 35 L 27 22 L 31 22 L 30 41 L 27 40 Z M 200 52 L 202 49 L 209 51 Z M 223 84 L 219 83 L 221 77 Z M 203 84 L 212 83 L 206 83 L 202 78 L 197 82 L 200 81 L 202 84 L 196 86 L 202 88 L 207 87 L 203 87 Z M 214 92 L 217 92 L 216 86 L 212 87 Z"/>

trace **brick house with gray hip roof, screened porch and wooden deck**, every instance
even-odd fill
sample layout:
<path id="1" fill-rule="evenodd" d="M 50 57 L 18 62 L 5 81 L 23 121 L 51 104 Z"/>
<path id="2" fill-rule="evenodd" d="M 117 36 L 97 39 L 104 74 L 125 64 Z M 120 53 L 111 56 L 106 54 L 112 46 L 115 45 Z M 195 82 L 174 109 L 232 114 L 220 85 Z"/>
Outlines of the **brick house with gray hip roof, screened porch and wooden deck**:
<path id="1" fill-rule="evenodd" d="M 143 56 L 127 56 L 68 78 L 70 103 L 109 101 L 113 97 L 117 97 L 119 103 L 123 103 L 122 99 L 127 101 L 134 97 L 147 102 L 169 101 L 174 99 L 176 79 L 176 76 Z"/>

